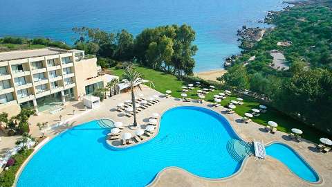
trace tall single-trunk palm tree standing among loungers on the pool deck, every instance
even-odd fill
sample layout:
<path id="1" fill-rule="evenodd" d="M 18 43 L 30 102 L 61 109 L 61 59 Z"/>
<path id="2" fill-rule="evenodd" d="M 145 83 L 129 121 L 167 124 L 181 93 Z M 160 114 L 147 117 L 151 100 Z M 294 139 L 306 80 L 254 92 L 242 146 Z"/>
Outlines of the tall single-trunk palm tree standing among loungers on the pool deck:
<path id="1" fill-rule="evenodd" d="M 137 121 L 136 121 L 136 104 L 135 104 L 135 94 L 133 93 L 133 89 L 135 89 L 135 86 L 138 85 L 142 80 L 142 75 L 134 71 L 131 67 L 127 67 L 127 69 L 123 73 L 123 78 L 127 79 L 129 82 L 129 87 L 131 89 L 131 103 L 133 103 L 133 126 L 137 126 Z M 140 87 L 139 87 L 140 88 Z"/>

